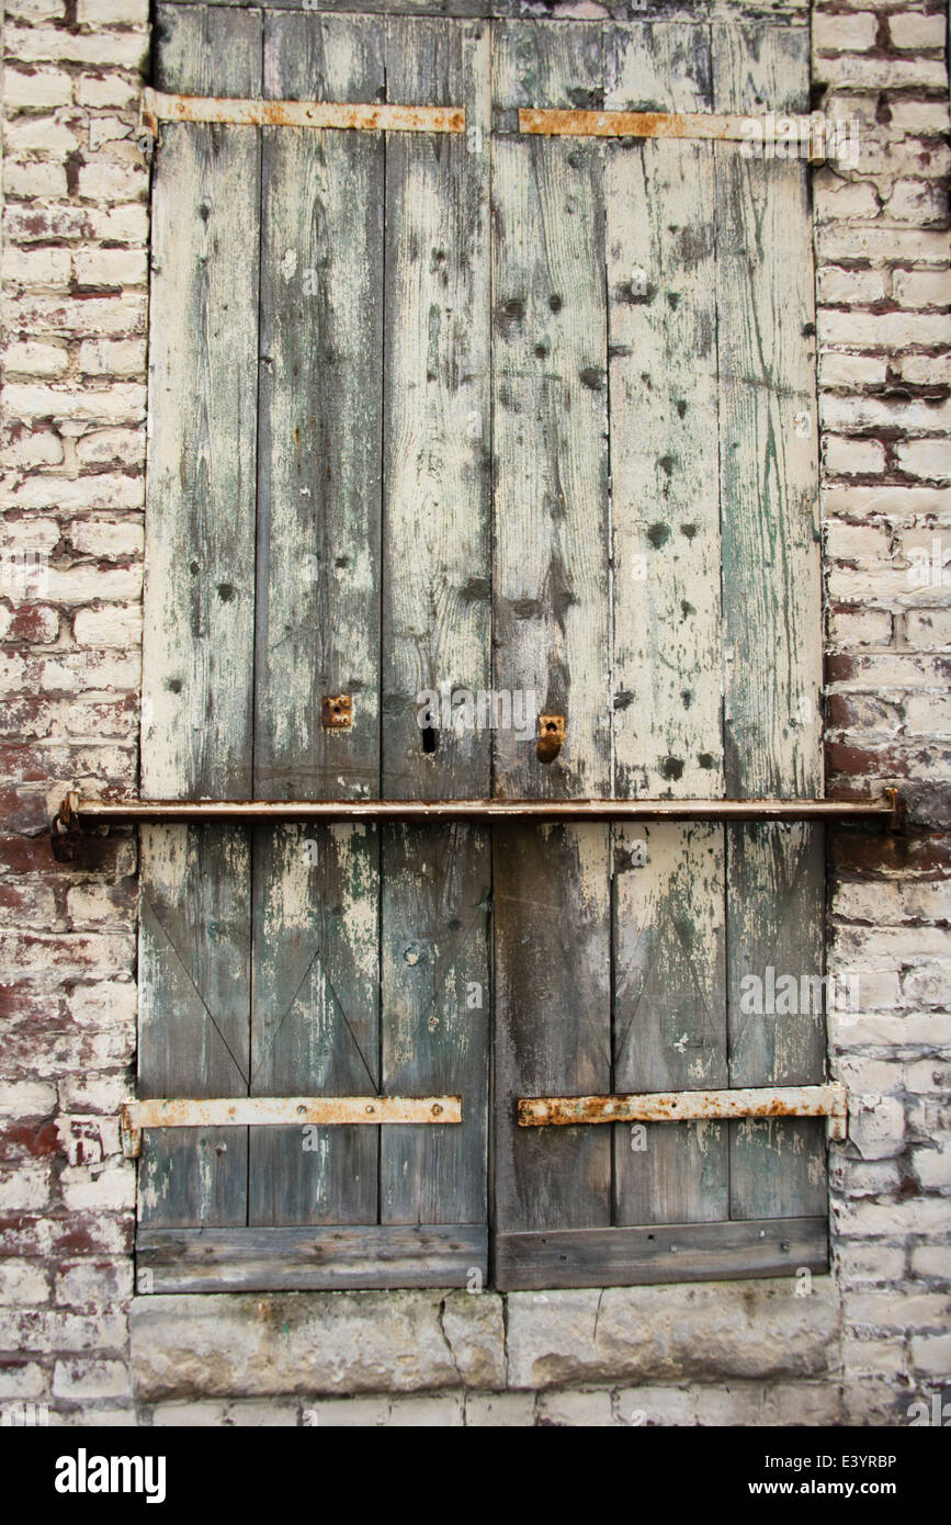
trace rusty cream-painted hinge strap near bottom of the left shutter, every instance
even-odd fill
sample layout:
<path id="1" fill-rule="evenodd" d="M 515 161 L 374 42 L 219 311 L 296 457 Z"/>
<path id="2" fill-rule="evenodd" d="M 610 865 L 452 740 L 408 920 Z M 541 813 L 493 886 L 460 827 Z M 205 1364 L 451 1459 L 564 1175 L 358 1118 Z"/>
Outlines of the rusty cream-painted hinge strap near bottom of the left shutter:
<path id="1" fill-rule="evenodd" d="M 462 1096 L 212 1096 L 123 1101 L 123 1153 L 142 1150 L 143 1128 L 337 1127 L 462 1122 Z"/>

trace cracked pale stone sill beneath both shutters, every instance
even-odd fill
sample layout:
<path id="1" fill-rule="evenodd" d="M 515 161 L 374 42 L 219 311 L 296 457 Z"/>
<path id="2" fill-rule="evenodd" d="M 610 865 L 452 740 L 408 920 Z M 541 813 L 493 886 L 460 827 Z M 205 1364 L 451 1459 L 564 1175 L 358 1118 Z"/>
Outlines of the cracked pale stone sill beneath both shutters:
<path id="1" fill-rule="evenodd" d="M 808 1296 L 796 1286 L 146 1296 L 131 1310 L 133 1380 L 165 1401 L 835 1372 L 832 1279 L 814 1276 Z"/>

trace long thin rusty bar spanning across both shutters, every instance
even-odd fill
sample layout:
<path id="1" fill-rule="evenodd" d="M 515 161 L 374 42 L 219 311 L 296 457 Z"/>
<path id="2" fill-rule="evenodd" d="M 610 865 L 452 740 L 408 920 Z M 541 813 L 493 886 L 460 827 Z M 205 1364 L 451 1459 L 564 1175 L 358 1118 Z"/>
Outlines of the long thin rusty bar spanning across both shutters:
<path id="1" fill-rule="evenodd" d="M 136 820 L 850 820 L 899 824 L 898 790 L 873 799 L 84 799 L 55 831 Z"/>

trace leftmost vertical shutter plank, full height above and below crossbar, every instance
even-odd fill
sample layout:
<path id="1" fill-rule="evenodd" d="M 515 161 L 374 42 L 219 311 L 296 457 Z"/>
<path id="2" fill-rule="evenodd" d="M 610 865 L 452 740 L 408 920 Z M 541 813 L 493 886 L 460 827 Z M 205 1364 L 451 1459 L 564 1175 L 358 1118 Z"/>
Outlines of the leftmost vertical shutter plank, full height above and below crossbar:
<path id="1" fill-rule="evenodd" d="M 157 84 L 258 95 L 255 12 L 160 8 Z M 152 200 L 142 791 L 251 787 L 258 134 L 165 125 Z M 187 406 L 183 406 L 187 398 Z M 143 828 L 139 1090 L 248 1089 L 248 843 Z M 247 1135 L 145 1138 L 148 1225 L 244 1223 Z"/>

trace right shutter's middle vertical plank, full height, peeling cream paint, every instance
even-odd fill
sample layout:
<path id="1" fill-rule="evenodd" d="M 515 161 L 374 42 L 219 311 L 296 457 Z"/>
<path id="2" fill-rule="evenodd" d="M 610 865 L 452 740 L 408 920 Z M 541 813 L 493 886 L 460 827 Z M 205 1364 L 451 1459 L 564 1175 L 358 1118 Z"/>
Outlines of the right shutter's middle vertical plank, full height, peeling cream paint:
<path id="1" fill-rule="evenodd" d="M 712 108 L 707 26 L 617 26 L 605 44 L 605 107 Z M 611 143 L 607 160 L 616 791 L 716 798 L 713 145 Z M 614 840 L 614 1086 L 725 1086 L 722 828 L 619 825 Z M 728 1217 L 724 1125 L 614 1133 L 616 1223 Z"/>

